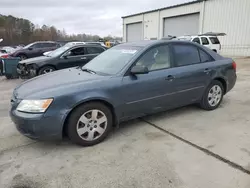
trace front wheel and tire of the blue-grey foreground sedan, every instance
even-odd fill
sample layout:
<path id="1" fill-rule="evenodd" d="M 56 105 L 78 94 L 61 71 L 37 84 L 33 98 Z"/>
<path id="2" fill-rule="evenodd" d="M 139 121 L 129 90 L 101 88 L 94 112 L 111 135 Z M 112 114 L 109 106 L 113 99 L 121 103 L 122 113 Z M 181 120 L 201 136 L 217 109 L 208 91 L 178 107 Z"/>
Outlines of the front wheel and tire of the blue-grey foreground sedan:
<path id="1" fill-rule="evenodd" d="M 72 112 L 66 130 L 72 142 L 81 146 L 93 146 L 108 136 L 112 125 L 113 117 L 110 109 L 102 103 L 90 102 Z"/>

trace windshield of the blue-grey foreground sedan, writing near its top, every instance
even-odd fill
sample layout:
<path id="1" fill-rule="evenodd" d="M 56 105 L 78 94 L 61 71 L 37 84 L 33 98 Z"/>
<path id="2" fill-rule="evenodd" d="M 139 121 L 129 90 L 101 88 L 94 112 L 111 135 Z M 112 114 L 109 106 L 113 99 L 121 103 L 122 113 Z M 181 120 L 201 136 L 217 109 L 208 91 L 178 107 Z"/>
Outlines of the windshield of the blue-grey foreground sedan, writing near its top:
<path id="1" fill-rule="evenodd" d="M 101 53 L 83 68 L 108 75 L 114 75 L 120 72 L 139 50 L 139 47 L 121 46 L 111 48 Z"/>

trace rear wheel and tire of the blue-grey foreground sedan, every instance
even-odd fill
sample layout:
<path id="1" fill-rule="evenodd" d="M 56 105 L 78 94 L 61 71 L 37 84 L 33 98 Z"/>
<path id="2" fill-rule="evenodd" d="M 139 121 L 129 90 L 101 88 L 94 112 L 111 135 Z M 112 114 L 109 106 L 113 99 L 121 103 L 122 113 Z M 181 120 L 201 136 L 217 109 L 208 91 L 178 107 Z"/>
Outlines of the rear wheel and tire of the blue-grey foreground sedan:
<path id="1" fill-rule="evenodd" d="M 209 84 L 209 86 L 207 87 L 207 89 L 205 90 L 202 96 L 200 107 L 208 111 L 215 110 L 216 108 L 220 106 L 223 100 L 223 96 L 224 96 L 224 87 L 222 83 L 218 80 L 213 80 Z"/>

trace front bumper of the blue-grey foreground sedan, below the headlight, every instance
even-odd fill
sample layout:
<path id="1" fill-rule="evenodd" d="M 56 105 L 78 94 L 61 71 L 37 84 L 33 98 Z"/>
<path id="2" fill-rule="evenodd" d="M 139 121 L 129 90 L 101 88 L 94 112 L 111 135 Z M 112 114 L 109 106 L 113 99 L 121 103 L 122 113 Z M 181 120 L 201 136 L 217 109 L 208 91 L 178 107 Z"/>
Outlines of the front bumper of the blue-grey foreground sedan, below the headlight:
<path id="1" fill-rule="evenodd" d="M 44 114 L 24 113 L 12 109 L 10 117 L 17 130 L 31 139 L 62 139 L 63 115 L 45 116 Z"/>

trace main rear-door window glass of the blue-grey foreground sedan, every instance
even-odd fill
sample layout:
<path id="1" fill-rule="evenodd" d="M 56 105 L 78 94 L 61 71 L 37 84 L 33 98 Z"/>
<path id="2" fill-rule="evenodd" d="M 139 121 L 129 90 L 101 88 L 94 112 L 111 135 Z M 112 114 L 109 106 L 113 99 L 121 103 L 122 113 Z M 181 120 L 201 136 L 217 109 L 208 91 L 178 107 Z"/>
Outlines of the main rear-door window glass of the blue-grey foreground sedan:
<path id="1" fill-rule="evenodd" d="M 176 66 L 186 66 L 200 63 L 199 51 L 193 45 L 174 44 L 173 50 Z"/>

